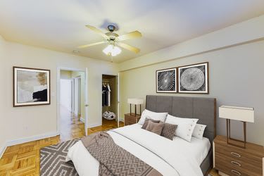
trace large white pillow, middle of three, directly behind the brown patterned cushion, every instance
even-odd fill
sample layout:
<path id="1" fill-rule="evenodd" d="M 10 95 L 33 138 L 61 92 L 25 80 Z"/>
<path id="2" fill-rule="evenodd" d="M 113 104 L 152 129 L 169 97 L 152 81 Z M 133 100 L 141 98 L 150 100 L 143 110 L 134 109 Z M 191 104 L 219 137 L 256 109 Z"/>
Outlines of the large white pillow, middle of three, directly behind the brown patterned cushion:
<path id="1" fill-rule="evenodd" d="M 187 142 L 191 142 L 191 134 L 194 132 L 194 127 L 198 120 L 197 118 L 177 118 L 168 114 L 165 122 L 178 125 L 175 135 L 187 140 Z"/>

